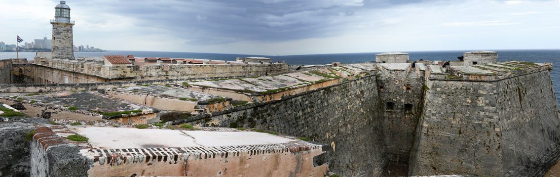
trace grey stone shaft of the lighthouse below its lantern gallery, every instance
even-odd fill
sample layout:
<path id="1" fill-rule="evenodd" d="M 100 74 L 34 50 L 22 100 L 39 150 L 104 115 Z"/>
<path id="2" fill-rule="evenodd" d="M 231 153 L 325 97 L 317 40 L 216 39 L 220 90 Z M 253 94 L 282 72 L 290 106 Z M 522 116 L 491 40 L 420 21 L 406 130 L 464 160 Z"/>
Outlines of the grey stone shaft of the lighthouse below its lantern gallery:
<path id="1" fill-rule="evenodd" d="M 73 24 L 53 24 L 53 59 L 74 60 Z"/>

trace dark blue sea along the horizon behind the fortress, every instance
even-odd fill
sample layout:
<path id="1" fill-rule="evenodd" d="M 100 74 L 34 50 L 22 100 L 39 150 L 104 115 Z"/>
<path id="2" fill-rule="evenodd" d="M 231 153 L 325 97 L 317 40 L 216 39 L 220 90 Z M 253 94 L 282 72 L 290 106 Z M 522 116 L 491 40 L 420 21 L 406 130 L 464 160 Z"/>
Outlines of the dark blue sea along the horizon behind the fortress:
<path id="1" fill-rule="evenodd" d="M 410 60 L 457 60 L 458 56 L 463 52 L 471 50 L 456 51 L 408 51 Z M 550 73 L 554 90 L 556 92 L 556 100 L 560 103 L 560 49 L 543 49 L 543 50 L 493 50 L 498 51 L 499 61 L 520 60 L 535 63 L 552 63 L 554 69 Z M 407 52 L 407 51 L 405 51 Z M 198 58 L 198 59 L 215 59 L 215 60 L 235 60 L 237 57 L 246 56 L 263 56 L 272 58 L 273 61 L 286 61 L 291 65 L 311 65 L 311 64 L 327 64 L 334 61 L 340 63 L 363 63 L 365 61 L 375 61 L 375 54 L 380 52 L 352 53 L 352 54 L 314 54 L 314 55 L 283 55 L 283 56 L 267 56 L 267 55 L 250 55 L 250 54 L 211 54 L 211 53 L 195 53 L 195 52 L 160 52 L 160 51 L 110 51 L 110 52 L 74 52 L 76 57 L 80 56 L 103 56 L 103 55 L 134 55 L 137 57 L 166 57 L 166 58 Z M 20 58 L 32 60 L 35 52 L 20 52 Z M 15 58 L 15 52 L 0 52 L 0 60 Z"/>

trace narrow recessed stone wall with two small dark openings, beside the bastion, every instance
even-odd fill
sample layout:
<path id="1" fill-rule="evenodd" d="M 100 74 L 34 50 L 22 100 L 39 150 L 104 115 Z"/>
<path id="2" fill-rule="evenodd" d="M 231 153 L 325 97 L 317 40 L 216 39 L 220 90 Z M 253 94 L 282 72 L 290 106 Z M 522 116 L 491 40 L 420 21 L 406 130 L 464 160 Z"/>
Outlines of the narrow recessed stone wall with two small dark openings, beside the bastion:
<path id="1" fill-rule="evenodd" d="M 377 68 L 388 158 L 406 164 L 422 114 L 424 71 L 410 66 L 406 70 L 390 70 L 379 65 Z"/>

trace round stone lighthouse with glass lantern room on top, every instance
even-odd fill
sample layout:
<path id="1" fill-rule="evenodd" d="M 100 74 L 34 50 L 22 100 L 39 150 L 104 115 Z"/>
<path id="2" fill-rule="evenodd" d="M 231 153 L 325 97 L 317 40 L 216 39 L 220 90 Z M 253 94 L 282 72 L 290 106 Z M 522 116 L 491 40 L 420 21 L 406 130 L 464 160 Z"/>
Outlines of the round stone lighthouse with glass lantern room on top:
<path id="1" fill-rule="evenodd" d="M 70 20 L 70 7 L 66 1 L 60 1 L 54 7 L 54 19 L 50 23 L 53 24 L 53 59 L 74 60 L 74 21 Z"/>

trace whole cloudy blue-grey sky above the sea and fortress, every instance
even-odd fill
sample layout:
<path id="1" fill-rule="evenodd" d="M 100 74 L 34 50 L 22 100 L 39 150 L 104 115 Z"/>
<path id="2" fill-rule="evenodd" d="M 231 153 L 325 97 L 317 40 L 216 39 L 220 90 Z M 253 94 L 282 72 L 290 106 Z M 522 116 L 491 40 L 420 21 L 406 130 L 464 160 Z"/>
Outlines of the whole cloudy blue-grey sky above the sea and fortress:
<path id="1" fill-rule="evenodd" d="M 51 38 L 58 1 L 0 0 L 0 41 Z M 295 55 L 560 49 L 560 0 L 69 0 L 74 45 Z"/>

